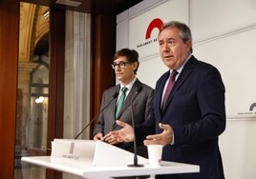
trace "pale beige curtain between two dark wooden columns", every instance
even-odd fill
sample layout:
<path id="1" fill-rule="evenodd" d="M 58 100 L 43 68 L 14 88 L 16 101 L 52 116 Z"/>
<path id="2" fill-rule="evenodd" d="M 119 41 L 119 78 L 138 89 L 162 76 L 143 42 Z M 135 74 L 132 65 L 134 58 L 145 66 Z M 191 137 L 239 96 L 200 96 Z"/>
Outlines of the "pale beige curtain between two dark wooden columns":
<path id="1" fill-rule="evenodd" d="M 91 15 L 67 10 L 64 138 L 74 139 L 90 121 Z M 89 139 L 86 129 L 78 139 Z"/>

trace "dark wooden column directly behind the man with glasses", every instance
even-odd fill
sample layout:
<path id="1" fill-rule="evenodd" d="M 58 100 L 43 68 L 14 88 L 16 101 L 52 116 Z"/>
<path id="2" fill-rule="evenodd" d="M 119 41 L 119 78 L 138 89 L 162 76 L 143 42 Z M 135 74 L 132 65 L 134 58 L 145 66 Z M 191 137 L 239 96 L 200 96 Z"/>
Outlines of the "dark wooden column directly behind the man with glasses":
<path id="1" fill-rule="evenodd" d="M 116 52 L 116 16 L 97 15 L 93 18 L 92 22 L 93 85 L 91 119 L 99 111 L 102 92 L 115 85 L 115 72 L 111 68 L 111 64 Z M 91 133 L 94 125 L 91 127 Z"/>

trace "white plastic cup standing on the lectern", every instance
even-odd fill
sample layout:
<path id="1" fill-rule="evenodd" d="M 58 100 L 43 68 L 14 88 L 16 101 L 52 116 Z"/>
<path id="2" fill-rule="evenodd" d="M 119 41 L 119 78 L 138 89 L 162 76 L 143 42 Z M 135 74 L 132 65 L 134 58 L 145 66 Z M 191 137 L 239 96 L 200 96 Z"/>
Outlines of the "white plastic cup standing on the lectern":
<path id="1" fill-rule="evenodd" d="M 156 168 L 160 167 L 162 145 L 148 145 L 148 160 L 149 167 Z"/>

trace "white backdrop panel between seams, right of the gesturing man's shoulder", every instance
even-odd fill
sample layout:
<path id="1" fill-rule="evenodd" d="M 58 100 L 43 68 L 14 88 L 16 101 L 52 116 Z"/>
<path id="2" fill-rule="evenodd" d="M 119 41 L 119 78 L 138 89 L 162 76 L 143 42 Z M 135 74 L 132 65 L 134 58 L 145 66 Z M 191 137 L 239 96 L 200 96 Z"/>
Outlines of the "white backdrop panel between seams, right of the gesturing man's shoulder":
<path id="1" fill-rule="evenodd" d="M 196 56 L 217 67 L 223 76 L 226 89 L 228 118 L 255 117 L 256 109 L 256 29 L 229 34 L 195 46 Z"/>

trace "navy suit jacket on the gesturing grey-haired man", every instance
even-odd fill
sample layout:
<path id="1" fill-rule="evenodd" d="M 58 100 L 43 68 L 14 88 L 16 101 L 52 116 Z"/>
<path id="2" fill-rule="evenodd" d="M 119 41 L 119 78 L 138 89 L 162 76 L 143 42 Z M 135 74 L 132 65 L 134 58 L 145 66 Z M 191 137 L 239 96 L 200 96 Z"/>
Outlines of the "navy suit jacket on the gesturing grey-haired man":
<path id="1" fill-rule="evenodd" d="M 162 90 L 169 76 L 157 82 L 151 118 L 136 129 L 138 140 L 160 133 L 159 123 L 174 129 L 174 145 L 163 148 L 162 160 L 200 165 L 200 173 L 158 178 L 223 179 L 218 136 L 225 129 L 224 84 L 220 72 L 192 56 L 185 64 L 161 113 Z"/>

